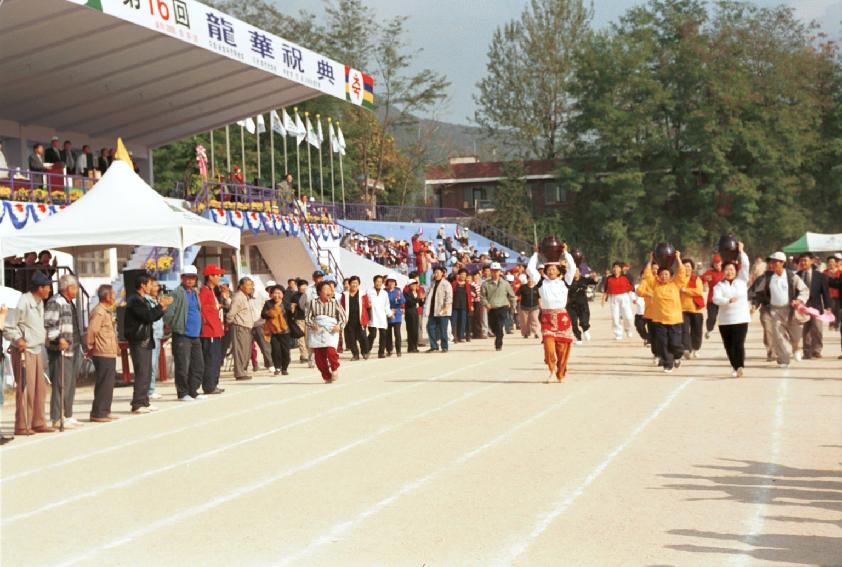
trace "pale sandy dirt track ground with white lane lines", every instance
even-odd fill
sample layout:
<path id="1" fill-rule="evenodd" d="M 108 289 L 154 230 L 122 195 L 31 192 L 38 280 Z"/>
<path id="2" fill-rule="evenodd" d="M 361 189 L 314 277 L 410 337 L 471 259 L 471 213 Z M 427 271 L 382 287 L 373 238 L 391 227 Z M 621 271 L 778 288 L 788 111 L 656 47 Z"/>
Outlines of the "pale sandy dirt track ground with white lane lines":
<path id="1" fill-rule="evenodd" d="M 535 339 L 223 380 L 204 401 L 0 449 L 4 566 L 842 565 L 842 361 L 748 368 L 718 335 L 671 375 L 594 340 L 544 384 Z M 297 357 L 296 357 L 297 358 Z M 4 408 L 10 431 L 13 408 Z"/>

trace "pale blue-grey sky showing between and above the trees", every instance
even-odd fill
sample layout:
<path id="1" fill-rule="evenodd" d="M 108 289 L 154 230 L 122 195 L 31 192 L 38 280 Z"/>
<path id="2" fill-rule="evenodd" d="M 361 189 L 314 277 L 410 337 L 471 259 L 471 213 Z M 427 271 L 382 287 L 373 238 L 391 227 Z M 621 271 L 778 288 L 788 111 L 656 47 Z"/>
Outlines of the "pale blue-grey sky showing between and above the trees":
<path id="1" fill-rule="evenodd" d="M 313 0 L 275 0 L 283 10 L 320 10 Z M 446 122 L 471 124 L 476 83 L 485 75 L 486 51 L 494 30 L 517 18 L 526 0 L 365 0 L 379 18 L 409 16 L 410 44 L 421 49 L 415 68 L 444 73 L 451 81 L 448 100 L 433 116 Z M 641 0 L 594 0 L 594 25 L 616 21 Z M 840 35 L 842 0 L 756 0 L 762 6 L 788 4 L 804 20 L 816 20 L 832 37 Z M 375 97 L 377 85 L 375 84 Z"/>

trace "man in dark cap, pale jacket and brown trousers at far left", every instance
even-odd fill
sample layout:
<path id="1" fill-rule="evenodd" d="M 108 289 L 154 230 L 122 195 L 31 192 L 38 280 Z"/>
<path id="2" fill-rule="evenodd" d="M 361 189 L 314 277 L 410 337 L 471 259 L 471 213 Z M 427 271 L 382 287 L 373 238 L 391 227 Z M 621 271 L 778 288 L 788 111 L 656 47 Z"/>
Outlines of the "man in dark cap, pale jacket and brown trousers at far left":
<path id="1" fill-rule="evenodd" d="M 14 318 L 3 329 L 3 336 L 14 347 L 11 359 L 15 373 L 15 435 L 55 431 L 44 416 L 47 382 L 41 353 L 47 339 L 44 301 L 50 296 L 52 284 L 46 276 L 36 273 L 29 289 L 18 301 Z"/>

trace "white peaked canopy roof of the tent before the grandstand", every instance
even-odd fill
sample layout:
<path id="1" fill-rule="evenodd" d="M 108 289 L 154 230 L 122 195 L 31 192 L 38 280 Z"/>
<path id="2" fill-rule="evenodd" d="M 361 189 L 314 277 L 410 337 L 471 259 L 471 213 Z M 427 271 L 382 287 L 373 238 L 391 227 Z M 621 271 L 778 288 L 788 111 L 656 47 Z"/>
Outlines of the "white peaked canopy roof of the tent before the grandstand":
<path id="1" fill-rule="evenodd" d="M 184 249 L 213 244 L 239 250 L 240 231 L 171 204 L 129 164 L 115 160 L 85 196 L 41 222 L 4 235 L 0 256 L 29 250 L 81 252 L 114 246 Z"/>

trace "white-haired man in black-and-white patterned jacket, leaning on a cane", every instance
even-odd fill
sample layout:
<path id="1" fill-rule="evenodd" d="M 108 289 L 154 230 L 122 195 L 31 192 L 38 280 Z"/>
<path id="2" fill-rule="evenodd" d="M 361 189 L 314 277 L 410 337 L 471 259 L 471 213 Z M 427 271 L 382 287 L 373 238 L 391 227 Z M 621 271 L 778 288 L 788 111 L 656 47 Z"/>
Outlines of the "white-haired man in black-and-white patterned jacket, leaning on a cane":
<path id="1" fill-rule="evenodd" d="M 73 402 L 76 400 L 76 377 L 82 368 L 84 344 L 82 322 L 75 303 L 79 293 L 79 282 L 75 276 L 66 274 L 59 278 L 58 287 L 59 292 L 50 297 L 44 307 L 47 359 L 50 365 L 50 380 L 53 383 L 50 419 L 53 427 L 58 427 L 64 418 L 65 427 L 72 428 L 80 425 L 73 417 Z"/>

